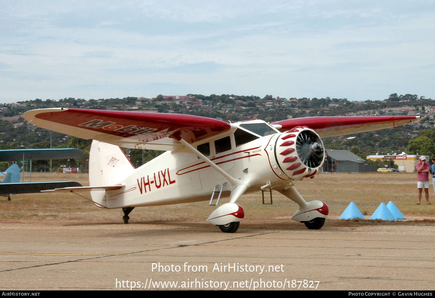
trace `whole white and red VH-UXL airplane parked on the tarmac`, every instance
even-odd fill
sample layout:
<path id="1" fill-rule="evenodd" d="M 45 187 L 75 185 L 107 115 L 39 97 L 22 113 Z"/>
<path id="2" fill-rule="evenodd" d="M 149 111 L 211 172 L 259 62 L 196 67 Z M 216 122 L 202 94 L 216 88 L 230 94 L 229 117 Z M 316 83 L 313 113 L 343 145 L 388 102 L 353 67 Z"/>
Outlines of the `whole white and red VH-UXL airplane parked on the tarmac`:
<path id="1" fill-rule="evenodd" d="M 298 203 L 292 219 L 320 229 L 328 206 L 306 202 L 293 183 L 321 171 L 325 151 L 320 137 L 392 128 L 420 117 L 307 117 L 268 124 L 257 119 L 227 123 L 192 115 L 49 108 L 25 112 L 24 118 L 44 129 L 94 140 L 90 186 L 51 191 L 90 191 L 98 207 L 123 208 L 125 223 L 134 207 L 204 201 L 219 193 L 218 199 L 229 196 L 229 203 L 215 209 L 207 221 L 234 233 L 244 218 L 237 204 L 240 196 L 272 189 Z M 118 146 L 166 152 L 135 169 Z"/>

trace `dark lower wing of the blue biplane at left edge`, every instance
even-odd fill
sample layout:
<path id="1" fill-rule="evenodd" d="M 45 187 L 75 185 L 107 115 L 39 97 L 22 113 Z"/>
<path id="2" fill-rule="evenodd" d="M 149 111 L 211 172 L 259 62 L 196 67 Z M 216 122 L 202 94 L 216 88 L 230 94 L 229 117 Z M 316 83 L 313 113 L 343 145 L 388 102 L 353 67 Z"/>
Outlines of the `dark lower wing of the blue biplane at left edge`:
<path id="1" fill-rule="evenodd" d="M 23 182 L 23 183 L 0 183 L 0 193 L 40 193 L 62 187 L 80 187 L 76 181 L 48 181 L 48 182 Z"/>

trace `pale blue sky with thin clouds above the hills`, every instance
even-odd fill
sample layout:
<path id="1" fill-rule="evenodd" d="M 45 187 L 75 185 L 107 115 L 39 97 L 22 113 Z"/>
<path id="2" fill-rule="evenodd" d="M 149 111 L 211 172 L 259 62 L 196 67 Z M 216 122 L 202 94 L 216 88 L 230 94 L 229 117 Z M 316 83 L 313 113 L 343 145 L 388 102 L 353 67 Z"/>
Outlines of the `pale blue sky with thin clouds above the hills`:
<path id="1" fill-rule="evenodd" d="M 434 1 L 0 0 L 0 102 L 435 99 Z"/>

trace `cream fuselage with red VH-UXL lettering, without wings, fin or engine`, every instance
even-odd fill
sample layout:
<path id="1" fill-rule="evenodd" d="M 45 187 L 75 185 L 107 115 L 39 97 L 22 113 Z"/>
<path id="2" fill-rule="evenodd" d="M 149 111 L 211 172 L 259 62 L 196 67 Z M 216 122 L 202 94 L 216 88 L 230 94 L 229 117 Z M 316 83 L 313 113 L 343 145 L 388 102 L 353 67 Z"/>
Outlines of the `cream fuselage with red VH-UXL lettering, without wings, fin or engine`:
<path id="1" fill-rule="evenodd" d="M 204 139 L 192 146 L 204 148 L 206 144 L 208 158 L 241 184 L 246 184 L 247 192 L 258 191 L 268 182 L 274 186 L 288 184 L 291 179 L 280 171 L 274 157 L 275 140 L 281 133 L 276 131 L 263 137 L 257 135 L 257 139 L 236 146 L 234 132 L 237 129 L 238 125 L 234 124 L 230 131 L 218 138 Z M 220 140 L 227 141 L 227 144 L 223 144 L 224 148 L 218 148 L 224 142 Z M 93 154 L 92 150 L 90 154 Z M 234 186 L 228 179 L 197 155 L 182 148 L 164 152 L 135 169 L 125 179 L 118 181 L 125 184 L 123 189 L 107 191 L 105 198 L 101 199 L 107 208 L 196 202 L 210 200 L 214 187 L 225 182 L 227 184 L 222 195 L 229 196 Z M 103 194 L 93 192 L 94 200 L 97 199 L 97 193 L 100 193 L 99 196 Z"/>

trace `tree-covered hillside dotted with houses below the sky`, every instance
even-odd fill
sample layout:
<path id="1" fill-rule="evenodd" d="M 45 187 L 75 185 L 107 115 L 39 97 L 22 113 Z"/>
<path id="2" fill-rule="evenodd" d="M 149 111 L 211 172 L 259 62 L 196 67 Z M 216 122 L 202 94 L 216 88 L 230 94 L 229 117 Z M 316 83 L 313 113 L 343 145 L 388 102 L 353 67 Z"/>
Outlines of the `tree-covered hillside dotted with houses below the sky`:
<path id="1" fill-rule="evenodd" d="M 413 149 L 414 147 L 408 148 L 409 141 L 428 136 L 431 139 L 432 137 L 427 131 L 434 130 L 433 117 L 435 115 L 435 100 L 424 96 L 397 95 L 396 93 L 385 99 L 362 102 L 349 101 L 347 98 L 329 97 L 284 98 L 266 95 L 261 98 L 254 95 L 214 94 L 157 95 L 151 98 L 125 97 L 89 100 L 82 98 L 35 99 L 0 104 L 0 149 L 50 148 L 51 146 L 52 148 L 73 147 L 88 152 L 89 140 L 49 132 L 28 125 L 21 116 L 31 109 L 54 107 L 190 114 L 232 122 L 253 118 L 273 122 L 310 116 L 420 115 L 423 117 L 418 123 L 399 126 L 397 129 L 385 129 L 323 140 L 327 149 L 350 150 L 362 158 L 375 154 L 375 152 L 393 154 L 407 150 L 418 150 Z M 433 141 L 435 141 L 435 136 Z M 141 150 L 132 150 L 131 159 L 133 164 L 141 165 L 159 153 L 151 151 L 143 153 Z M 433 153 L 435 154 L 435 146 Z M 37 164 L 35 166 L 38 167 Z"/>

